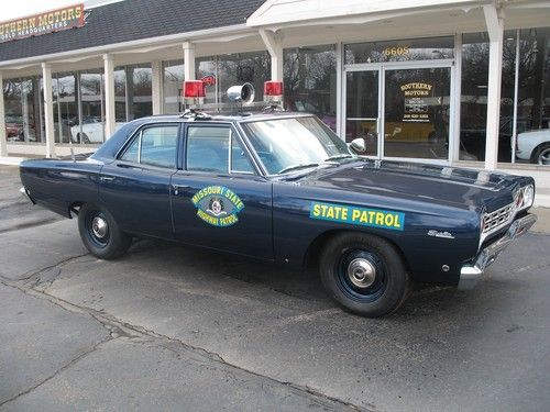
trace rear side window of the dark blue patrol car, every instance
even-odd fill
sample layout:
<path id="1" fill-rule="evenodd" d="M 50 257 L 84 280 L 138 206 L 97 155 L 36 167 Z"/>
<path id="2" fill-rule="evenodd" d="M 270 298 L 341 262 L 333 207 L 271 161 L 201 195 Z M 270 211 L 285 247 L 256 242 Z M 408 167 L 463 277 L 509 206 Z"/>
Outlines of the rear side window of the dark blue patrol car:
<path id="1" fill-rule="evenodd" d="M 174 169 L 176 167 L 178 125 L 142 130 L 121 160 Z"/>

